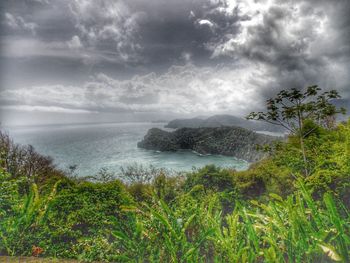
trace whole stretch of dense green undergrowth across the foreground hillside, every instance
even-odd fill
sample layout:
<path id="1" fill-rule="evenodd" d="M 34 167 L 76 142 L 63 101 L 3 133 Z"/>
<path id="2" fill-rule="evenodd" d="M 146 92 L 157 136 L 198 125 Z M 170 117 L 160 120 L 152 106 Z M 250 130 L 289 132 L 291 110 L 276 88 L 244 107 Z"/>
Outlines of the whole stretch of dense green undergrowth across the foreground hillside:
<path id="1" fill-rule="evenodd" d="M 309 124 L 314 125 L 314 124 Z M 0 254 L 112 262 L 350 262 L 350 120 L 247 171 L 78 180 L 1 134 Z M 107 174 L 108 175 L 108 174 Z"/>

